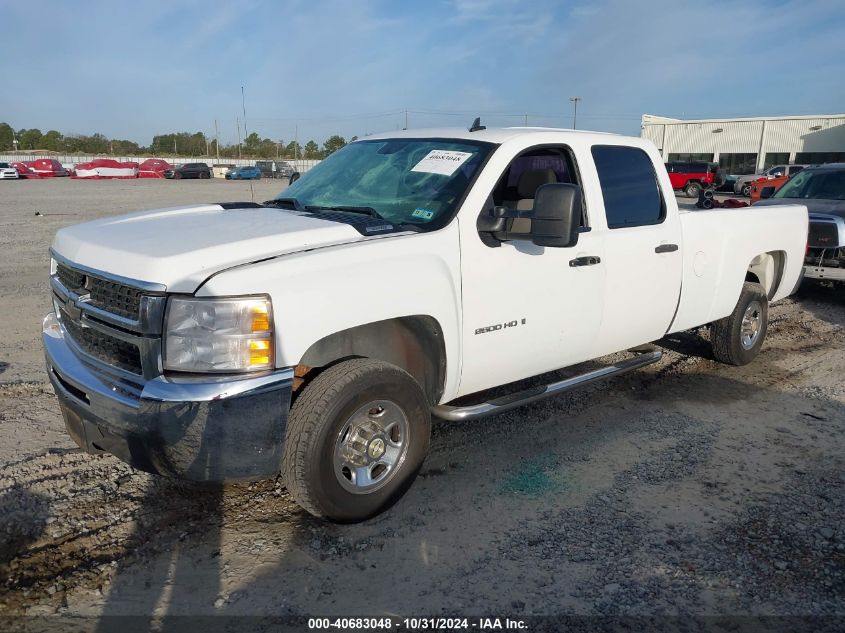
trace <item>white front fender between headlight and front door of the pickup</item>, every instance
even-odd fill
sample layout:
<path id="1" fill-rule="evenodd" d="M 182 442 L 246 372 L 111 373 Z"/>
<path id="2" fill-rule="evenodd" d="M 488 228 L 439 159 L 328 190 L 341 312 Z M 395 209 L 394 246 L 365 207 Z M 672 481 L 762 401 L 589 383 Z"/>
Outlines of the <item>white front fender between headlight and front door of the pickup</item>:
<path id="1" fill-rule="evenodd" d="M 276 366 L 292 367 L 317 341 L 397 317 L 427 315 L 446 352 L 443 398 L 460 375 L 461 284 L 457 222 L 431 233 L 386 235 L 248 264 L 212 276 L 197 296 L 269 294 Z"/>

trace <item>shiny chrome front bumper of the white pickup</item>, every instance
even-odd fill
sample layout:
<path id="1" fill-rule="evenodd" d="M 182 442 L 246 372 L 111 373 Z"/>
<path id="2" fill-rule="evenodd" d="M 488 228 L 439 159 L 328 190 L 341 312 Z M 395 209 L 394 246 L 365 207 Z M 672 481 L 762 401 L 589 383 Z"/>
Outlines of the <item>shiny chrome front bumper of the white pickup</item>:
<path id="1" fill-rule="evenodd" d="M 42 341 L 68 433 L 89 453 L 195 481 L 281 470 L 293 369 L 239 379 L 159 376 L 133 386 L 77 356 L 55 314 L 44 319 Z"/>

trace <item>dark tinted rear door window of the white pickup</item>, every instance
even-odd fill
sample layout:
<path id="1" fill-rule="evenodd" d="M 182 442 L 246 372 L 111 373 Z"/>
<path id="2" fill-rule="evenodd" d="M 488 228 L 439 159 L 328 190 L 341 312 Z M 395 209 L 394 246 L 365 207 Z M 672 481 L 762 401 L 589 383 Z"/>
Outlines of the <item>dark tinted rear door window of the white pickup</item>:
<path id="1" fill-rule="evenodd" d="M 641 149 L 594 145 L 593 160 L 599 175 L 607 226 L 659 224 L 666 211 L 651 159 Z"/>

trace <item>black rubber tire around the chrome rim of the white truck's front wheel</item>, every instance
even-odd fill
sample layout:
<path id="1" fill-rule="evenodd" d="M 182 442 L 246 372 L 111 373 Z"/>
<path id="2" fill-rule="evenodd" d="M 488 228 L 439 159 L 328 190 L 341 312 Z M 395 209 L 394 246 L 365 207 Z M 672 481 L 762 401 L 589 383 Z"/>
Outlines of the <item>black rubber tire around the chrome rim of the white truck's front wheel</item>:
<path id="1" fill-rule="evenodd" d="M 337 447 L 350 435 L 351 420 L 374 401 L 393 405 L 404 415 L 405 448 L 379 487 L 352 492 L 351 479 L 341 482 Z M 317 376 L 291 409 L 283 462 L 288 492 L 314 516 L 342 523 L 368 519 L 393 505 L 411 486 L 428 454 L 430 435 L 428 400 L 410 374 L 368 358 L 338 363 Z M 364 458 L 374 441 L 364 448 Z"/>

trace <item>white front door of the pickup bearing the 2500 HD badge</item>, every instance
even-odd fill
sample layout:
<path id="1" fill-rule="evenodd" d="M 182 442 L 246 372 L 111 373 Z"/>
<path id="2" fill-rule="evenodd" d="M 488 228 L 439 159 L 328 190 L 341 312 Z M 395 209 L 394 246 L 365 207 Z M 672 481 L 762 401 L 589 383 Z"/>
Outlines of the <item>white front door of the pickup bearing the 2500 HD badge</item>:
<path id="1" fill-rule="evenodd" d="M 554 180 L 552 180 L 553 172 Z M 602 317 L 605 272 L 601 232 L 583 232 L 571 248 L 548 248 L 524 239 L 498 245 L 483 239 L 475 219 L 492 205 L 528 210 L 534 190 L 546 182 L 578 182 L 572 151 L 543 146 L 522 152 L 508 165 L 487 200 L 461 213 L 463 365 L 459 395 L 583 362 Z M 480 185 L 480 183 L 479 183 Z M 466 211 L 469 211 L 467 209 Z M 589 213 L 582 220 L 588 229 Z M 578 265 L 594 258 L 597 265 Z M 576 263 L 573 263 L 576 262 Z"/>

